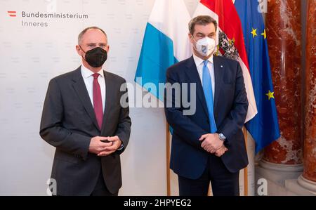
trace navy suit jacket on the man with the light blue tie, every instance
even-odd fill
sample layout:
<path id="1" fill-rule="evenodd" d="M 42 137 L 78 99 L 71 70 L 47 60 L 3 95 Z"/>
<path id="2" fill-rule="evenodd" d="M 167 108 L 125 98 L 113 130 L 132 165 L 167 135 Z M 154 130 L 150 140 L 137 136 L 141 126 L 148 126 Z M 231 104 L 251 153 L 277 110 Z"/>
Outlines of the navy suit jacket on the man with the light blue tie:
<path id="1" fill-rule="evenodd" d="M 235 60 L 214 55 L 213 64 L 214 117 L 217 133 L 226 136 L 225 145 L 228 147 L 228 152 L 225 152 L 221 159 L 230 172 L 237 172 L 248 164 L 242 133 L 248 109 L 244 78 L 242 69 Z M 183 104 L 181 103 L 178 108 L 174 106 L 174 93 L 171 101 L 173 107 L 166 107 L 166 93 L 164 101 L 166 120 L 173 128 L 170 167 L 180 176 L 197 179 L 204 172 L 210 155 L 201 147 L 199 138 L 205 133 L 210 133 L 210 126 L 204 91 L 193 57 L 169 67 L 166 82 L 196 84 L 195 114 L 183 115 Z M 187 98 L 190 101 L 190 85 L 188 90 Z"/>

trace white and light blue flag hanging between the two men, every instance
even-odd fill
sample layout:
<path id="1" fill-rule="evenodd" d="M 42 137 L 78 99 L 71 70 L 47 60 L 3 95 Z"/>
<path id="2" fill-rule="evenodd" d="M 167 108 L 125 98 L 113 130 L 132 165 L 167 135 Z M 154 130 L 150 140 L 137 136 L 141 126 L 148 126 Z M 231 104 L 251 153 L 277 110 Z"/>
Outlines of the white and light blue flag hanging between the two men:
<path id="1" fill-rule="evenodd" d="M 152 83 L 157 88 L 147 91 L 164 100 L 159 83 L 166 82 L 166 70 L 192 55 L 188 39 L 190 14 L 183 0 L 156 0 L 147 22 L 135 81 L 143 88 Z"/>

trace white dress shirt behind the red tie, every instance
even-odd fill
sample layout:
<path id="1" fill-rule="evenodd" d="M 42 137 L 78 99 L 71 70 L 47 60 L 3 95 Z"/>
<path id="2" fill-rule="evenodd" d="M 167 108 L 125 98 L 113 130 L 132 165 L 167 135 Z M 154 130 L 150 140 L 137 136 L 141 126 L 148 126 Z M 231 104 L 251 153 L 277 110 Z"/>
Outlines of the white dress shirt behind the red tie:
<path id="1" fill-rule="evenodd" d="M 84 65 L 81 65 L 81 75 L 82 78 L 84 78 L 84 84 L 86 84 L 86 90 L 88 91 L 91 104 L 93 107 L 93 76 L 94 72 L 91 72 L 91 70 L 88 70 Z M 98 83 L 100 84 L 100 89 L 101 89 L 101 97 L 102 97 L 102 107 L 103 107 L 103 113 L 105 109 L 105 78 L 104 78 L 104 73 L 103 70 L 100 70 L 98 72 L 99 77 L 98 77 Z"/>

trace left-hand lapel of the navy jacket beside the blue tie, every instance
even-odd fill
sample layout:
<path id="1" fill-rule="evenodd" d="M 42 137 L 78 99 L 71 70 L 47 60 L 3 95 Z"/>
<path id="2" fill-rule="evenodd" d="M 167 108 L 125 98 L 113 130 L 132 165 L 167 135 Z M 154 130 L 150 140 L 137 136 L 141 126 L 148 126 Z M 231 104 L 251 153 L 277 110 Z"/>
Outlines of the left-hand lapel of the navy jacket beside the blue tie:
<path id="1" fill-rule="evenodd" d="M 195 65 L 195 60 L 193 59 L 193 55 L 191 58 L 187 60 L 187 69 L 185 70 L 189 80 L 192 83 L 197 84 L 197 98 L 199 98 L 202 103 L 202 107 L 204 112 L 209 115 L 209 111 L 207 110 L 206 100 L 204 96 L 204 91 L 201 83 L 201 79 L 199 78 L 199 73 L 197 72 L 197 66 Z"/>

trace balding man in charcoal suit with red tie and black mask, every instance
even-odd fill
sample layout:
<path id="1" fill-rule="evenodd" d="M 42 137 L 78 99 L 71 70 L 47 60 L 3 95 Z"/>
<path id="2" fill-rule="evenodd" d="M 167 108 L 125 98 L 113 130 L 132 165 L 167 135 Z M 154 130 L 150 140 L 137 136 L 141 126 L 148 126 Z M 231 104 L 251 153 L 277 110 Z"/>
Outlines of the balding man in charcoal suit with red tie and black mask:
<path id="1" fill-rule="evenodd" d="M 126 81 L 103 70 L 109 46 L 102 29 L 84 29 L 76 48 L 81 67 L 51 79 L 41 117 L 41 138 L 56 147 L 51 178 L 57 195 L 118 195 L 119 155 L 131 133 L 127 98 L 120 103 Z"/>

